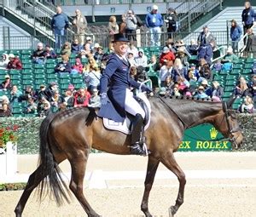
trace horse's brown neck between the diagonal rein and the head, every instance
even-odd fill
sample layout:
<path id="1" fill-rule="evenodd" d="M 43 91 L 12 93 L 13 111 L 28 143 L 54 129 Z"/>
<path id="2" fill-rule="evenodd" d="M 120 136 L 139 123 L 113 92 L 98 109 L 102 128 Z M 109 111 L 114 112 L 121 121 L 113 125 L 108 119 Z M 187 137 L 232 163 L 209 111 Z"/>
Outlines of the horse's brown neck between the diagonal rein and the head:
<path id="1" fill-rule="evenodd" d="M 213 123 L 214 117 L 221 110 L 221 103 L 196 100 L 180 100 L 180 103 L 173 106 L 173 111 L 176 111 L 184 128 L 195 127 L 201 123 Z"/>

